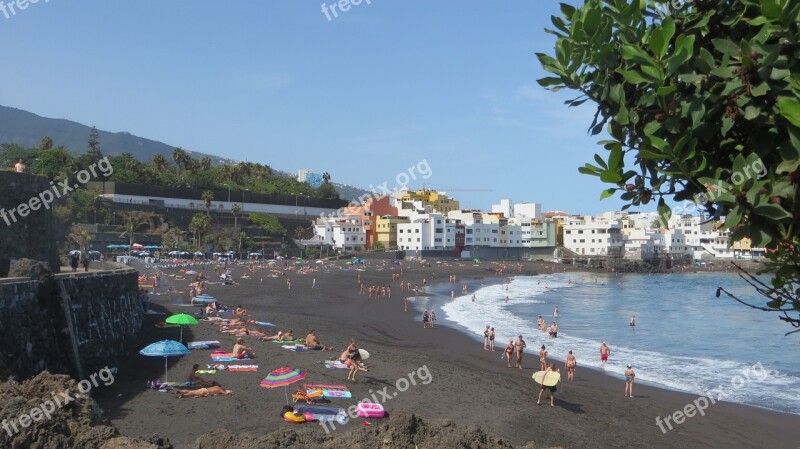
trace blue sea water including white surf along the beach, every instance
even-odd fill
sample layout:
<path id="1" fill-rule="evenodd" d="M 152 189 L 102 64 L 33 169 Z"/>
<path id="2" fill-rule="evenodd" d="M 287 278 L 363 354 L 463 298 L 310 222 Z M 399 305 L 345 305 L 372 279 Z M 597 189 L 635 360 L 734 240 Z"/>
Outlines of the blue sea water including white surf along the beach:
<path id="1" fill-rule="evenodd" d="M 637 383 L 710 395 L 723 401 L 800 414 L 800 335 L 778 320 L 777 313 L 760 312 L 736 303 L 723 287 L 756 305 L 766 300 L 733 273 L 674 273 L 659 275 L 556 273 L 515 276 L 505 284 L 461 282 L 450 299 L 449 284 L 431 288 L 420 297 L 421 307 L 434 307 L 443 324 L 474 336 L 481 346 L 486 325 L 497 333 L 500 354 L 512 338 L 523 335 L 526 352 L 547 347 L 548 358 L 563 370 L 572 350 L 578 369 L 591 367 L 623 377 L 632 364 Z M 472 302 L 475 294 L 476 301 Z M 506 302 L 508 297 L 508 302 Z M 542 315 L 548 325 L 558 306 L 558 337 L 537 329 Z M 636 326 L 629 325 L 636 315 Z M 600 345 L 611 355 L 600 362 Z M 536 367 L 538 357 L 524 365 Z"/>

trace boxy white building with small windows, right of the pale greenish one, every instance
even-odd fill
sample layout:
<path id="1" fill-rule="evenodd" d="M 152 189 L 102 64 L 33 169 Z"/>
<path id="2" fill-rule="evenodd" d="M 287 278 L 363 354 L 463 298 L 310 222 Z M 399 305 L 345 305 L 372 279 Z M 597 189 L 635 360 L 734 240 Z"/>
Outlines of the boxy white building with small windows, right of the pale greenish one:
<path id="1" fill-rule="evenodd" d="M 595 217 L 564 221 L 564 247 L 581 256 L 621 256 L 625 242 L 622 223 Z"/>

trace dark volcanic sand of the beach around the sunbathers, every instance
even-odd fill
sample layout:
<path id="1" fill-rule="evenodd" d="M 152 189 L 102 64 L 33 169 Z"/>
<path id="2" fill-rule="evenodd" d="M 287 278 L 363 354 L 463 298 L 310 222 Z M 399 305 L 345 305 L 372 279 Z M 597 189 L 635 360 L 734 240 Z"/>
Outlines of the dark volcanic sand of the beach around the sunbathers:
<path id="1" fill-rule="evenodd" d="M 342 264 L 339 262 L 339 264 Z M 406 262 L 405 281 L 422 284 L 422 278 L 447 282 L 449 274 L 460 280 L 496 276 L 497 263 L 483 262 L 480 267 L 471 263 L 449 263 L 422 268 Z M 260 342 L 245 337 L 258 358 L 258 373 L 218 372 L 203 375 L 221 382 L 235 391 L 232 397 L 178 399 L 173 393 L 144 391 L 147 379 L 162 378 L 163 359 L 151 359 L 134 354 L 122 366 L 116 382 L 109 388 L 96 392 L 96 399 L 123 435 L 140 436 L 153 433 L 168 437 L 176 447 L 189 447 L 202 434 L 216 429 L 264 435 L 281 427 L 291 427 L 302 432 L 324 434 L 316 424 L 292 425 L 282 421 L 279 410 L 284 404 L 282 389 L 264 389 L 261 378 L 277 367 L 290 365 L 308 371 L 307 383 L 347 384 L 353 392 L 352 400 L 336 400 L 333 406 L 346 408 L 357 400 L 370 397 L 372 391 L 388 387 L 396 392 L 398 379 L 426 366 L 432 381 L 417 385 L 384 403 L 391 414 L 393 410 L 410 410 L 423 418 L 450 418 L 460 424 L 477 424 L 487 432 L 504 437 L 515 444 L 530 441 L 543 447 L 567 448 L 787 448 L 798 447 L 800 417 L 766 411 L 758 408 L 718 403 L 711 406 L 705 416 L 695 416 L 677 426 L 666 435 L 655 425 L 656 416 L 666 416 L 683 409 L 695 396 L 667 390 L 636 386 L 636 398 L 623 397 L 623 383 L 600 372 L 579 368 L 575 381 L 559 391 L 555 407 L 536 405 L 538 392 L 531 374 L 538 370 L 538 358 L 527 354 L 524 370 L 507 369 L 501 362 L 500 352 L 486 352 L 481 343 L 455 330 L 444 327 L 422 329 L 418 314 L 409 304 L 403 311 L 403 294 L 397 282 L 391 282 L 391 273 L 399 269 L 380 268 L 372 262 L 366 271 L 315 272 L 310 275 L 287 273 L 292 279 L 292 289 L 287 291 L 285 277 L 272 278 L 269 271 L 252 274 L 252 279 L 241 279 L 245 268 L 236 267 L 234 278 L 238 285 L 212 284 L 208 293 L 222 303 L 244 305 L 259 321 L 271 321 L 277 328 L 271 331 L 294 329 L 305 336 L 316 329 L 320 341 L 336 348 L 334 352 L 295 353 L 271 342 Z M 558 266 L 561 270 L 563 266 Z M 192 268 L 204 270 L 204 268 Z M 205 267 L 211 274 L 210 267 Z M 522 274 L 538 270 L 550 272 L 550 265 L 523 263 Z M 175 273 L 167 270 L 166 273 Z M 366 285 L 392 285 L 391 299 L 369 300 L 358 295 L 357 276 Z M 509 265 L 504 276 L 519 274 L 516 264 Z M 264 283 L 259 283 L 259 278 Z M 312 278 L 317 288 L 311 289 Z M 165 277 L 166 284 L 170 282 Z M 187 281 L 172 281 L 186 290 Z M 460 285 L 460 284 L 459 284 Z M 160 288 L 164 291 L 165 288 Z M 192 313 L 199 308 L 179 307 L 187 302 L 188 294 L 152 296 L 154 307 L 169 313 Z M 148 316 L 142 346 L 164 338 L 177 339 L 178 329 L 160 329 L 154 326 L 165 316 Z M 235 337 L 220 334 L 217 327 L 201 322 L 184 330 L 190 340 L 219 340 L 223 349 L 230 349 Z M 532 333 L 535 332 L 532 330 Z M 346 380 L 347 370 L 325 369 L 321 362 L 335 358 L 350 338 L 356 338 L 359 347 L 367 349 L 370 371 L 359 373 L 356 382 Z M 538 338 L 538 335 L 537 335 Z M 529 338 L 528 342 L 536 341 Z M 502 350 L 503 342 L 498 342 Z M 535 346 L 535 345 L 533 345 Z M 532 346 L 532 347 L 533 347 Z M 210 351 L 193 351 L 192 354 L 170 359 L 170 380 L 182 380 L 193 363 L 204 366 L 211 363 Z M 559 366 L 563 361 L 558 360 Z M 579 360 L 580 363 L 580 360 Z M 513 365 L 512 365 L 513 366 Z M 424 371 L 421 371 L 425 374 Z M 566 377 L 566 376 L 565 376 Z M 419 376 L 416 377 L 419 379 Z M 302 383 L 302 382 L 301 382 Z M 292 386 L 290 386 L 291 392 Z M 118 395 L 120 395 L 118 397 Z M 382 396 L 377 395 L 380 399 Z M 544 403 L 544 401 L 543 401 Z M 335 432 L 360 431 L 363 419 L 351 420 Z"/>

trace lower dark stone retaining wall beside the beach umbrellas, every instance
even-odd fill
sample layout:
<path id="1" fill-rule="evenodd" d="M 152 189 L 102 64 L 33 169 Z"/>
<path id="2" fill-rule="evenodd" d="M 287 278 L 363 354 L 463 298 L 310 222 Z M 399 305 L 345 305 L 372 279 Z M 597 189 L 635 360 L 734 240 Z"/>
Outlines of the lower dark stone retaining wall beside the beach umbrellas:
<path id="1" fill-rule="evenodd" d="M 0 356 L 18 379 L 115 366 L 142 327 L 137 272 L 0 281 Z"/>

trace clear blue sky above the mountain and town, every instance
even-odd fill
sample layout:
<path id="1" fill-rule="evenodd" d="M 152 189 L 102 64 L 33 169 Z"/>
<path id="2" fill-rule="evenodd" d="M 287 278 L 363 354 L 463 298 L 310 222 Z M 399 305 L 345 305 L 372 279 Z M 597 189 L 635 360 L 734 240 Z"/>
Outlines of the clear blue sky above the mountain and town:
<path id="1" fill-rule="evenodd" d="M 577 171 L 593 108 L 536 84 L 557 1 L 322 3 L 39 0 L 0 13 L 0 104 L 361 187 L 424 159 L 463 207 L 619 209 Z"/>

